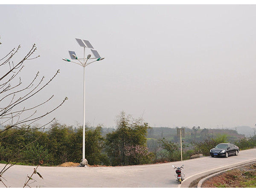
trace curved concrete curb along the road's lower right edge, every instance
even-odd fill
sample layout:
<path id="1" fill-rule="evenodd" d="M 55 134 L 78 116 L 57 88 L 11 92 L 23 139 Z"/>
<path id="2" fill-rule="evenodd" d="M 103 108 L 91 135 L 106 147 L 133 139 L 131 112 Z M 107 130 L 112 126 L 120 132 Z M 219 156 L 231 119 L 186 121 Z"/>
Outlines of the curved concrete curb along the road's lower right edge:
<path id="1" fill-rule="evenodd" d="M 180 187 L 182 187 L 182 188 L 199 187 L 200 188 L 201 184 L 204 182 L 204 179 L 206 180 L 207 178 L 218 175 L 221 172 L 225 172 L 227 170 L 235 169 L 237 167 L 249 165 L 249 164 L 252 164 L 252 163 L 256 163 L 256 159 L 249 160 L 249 161 L 246 161 L 246 162 L 243 162 L 243 163 L 236 163 L 236 164 L 233 164 L 233 165 L 230 165 L 230 166 L 225 166 L 224 168 L 214 169 L 214 170 L 204 172 L 204 173 L 201 173 L 201 174 L 199 173 L 197 175 L 194 175 L 193 177 L 190 177 L 190 178 L 184 180 L 183 183 L 181 183 Z M 201 184 L 199 184 L 199 183 L 201 183 Z"/>

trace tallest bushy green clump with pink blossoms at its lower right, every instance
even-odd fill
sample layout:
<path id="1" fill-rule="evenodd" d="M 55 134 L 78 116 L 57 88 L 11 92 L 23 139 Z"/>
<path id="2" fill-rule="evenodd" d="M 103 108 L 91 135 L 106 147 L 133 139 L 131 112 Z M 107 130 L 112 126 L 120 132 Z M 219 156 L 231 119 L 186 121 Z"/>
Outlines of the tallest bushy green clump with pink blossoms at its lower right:
<path id="1" fill-rule="evenodd" d="M 152 155 L 148 154 L 145 148 L 148 128 L 150 127 L 142 122 L 142 119 L 133 120 L 130 116 L 126 116 L 125 112 L 121 112 L 117 119 L 116 131 L 106 135 L 105 150 L 111 165 L 137 165 L 150 162 Z"/>

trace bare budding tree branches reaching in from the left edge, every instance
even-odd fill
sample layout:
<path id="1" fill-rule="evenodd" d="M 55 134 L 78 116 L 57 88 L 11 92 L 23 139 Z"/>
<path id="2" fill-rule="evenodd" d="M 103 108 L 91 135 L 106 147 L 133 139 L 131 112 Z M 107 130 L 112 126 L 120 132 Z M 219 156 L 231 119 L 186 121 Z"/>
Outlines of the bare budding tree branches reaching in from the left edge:
<path id="1" fill-rule="evenodd" d="M 3 58 L 1 58 L 2 56 L 0 57 L 0 134 L 9 129 L 17 131 L 23 130 L 26 134 L 27 131 L 33 130 L 32 125 L 35 122 L 38 122 L 38 120 L 45 116 L 48 116 L 67 100 L 67 97 L 65 97 L 64 100 L 55 107 L 38 115 L 37 111 L 40 107 L 44 107 L 45 104 L 53 98 L 53 95 L 39 103 L 36 103 L 37 99 L 35 97 L 45 90 L 44 88 L 57 76 L 59 70 L 46 82 L 44 82 L 44 76 L 40 77 L 38 72 L 28 84 L 23 86 L 20 74 L 24 68 L 24 62 L 36 59 L 40 57 L 40 55 L 32 57 L 37 49 L 34 44 L 24 58 L 20 61 L 13 61 L 20 48 L 21 47 L 18 46 L 10 52 L 7 52 Z M 33 103 L 36 104 L 33 105 Z M 28 104 L 29 107 L 26 107 Z M 33 128 L 44 129 L 46 125 L 54 120 L 55 118 L 44 125 Z M 12 131 L 12 134 L 15 134 L 15 131 Z M 5 137 L 8 137 L 8 135 Z M 1 139 L 0 135 L 0 143 Z M 29 145 L 29 143 L 27 145 Z M 17 154 L 19 151 L 17 151 Z M 3 173 L 12 165 L 13 164 L 9 166 L 6 165 L 2 170 L 0 170 L 0 182 L 3 182 Z"/>

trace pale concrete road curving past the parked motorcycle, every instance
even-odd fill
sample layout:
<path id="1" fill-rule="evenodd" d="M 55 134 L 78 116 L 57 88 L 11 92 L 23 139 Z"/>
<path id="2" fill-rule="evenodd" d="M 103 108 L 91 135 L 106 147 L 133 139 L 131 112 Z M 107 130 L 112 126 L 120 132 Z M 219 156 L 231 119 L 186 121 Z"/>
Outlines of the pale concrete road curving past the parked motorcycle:
<path id="1" fill-rule="evenodd" d="M 117 167 L 38 167 L 44 180 L 35 175 L 37 182 L 31 187 L 187 187 L 186 180 L 216 169 L 256 161 L 256 149 L 240 151 L 238 156 L 228 158 L 201 157 L 183 162 Z M 184 164 L 186 180 L 180 185 L 175 180 L 174 166 Z M 4 164 L 0 164 L 2 169 Z M 3 176 L 9 187 L 23 187 L 27 175 L 36 166 L 12 166 Z M 190 182 L 190 181 L 189 181 Z M 184 184 L 184 185 L 183 185 Z M 4 187 L 0 183 L 0 187 Z"/>

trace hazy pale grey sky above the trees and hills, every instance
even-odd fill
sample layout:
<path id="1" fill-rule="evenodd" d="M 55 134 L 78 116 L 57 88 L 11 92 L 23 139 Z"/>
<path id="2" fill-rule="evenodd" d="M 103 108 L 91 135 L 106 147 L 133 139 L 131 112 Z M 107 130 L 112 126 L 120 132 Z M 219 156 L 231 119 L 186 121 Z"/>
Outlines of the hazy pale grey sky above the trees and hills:
<path id="1" fill-rule="evenodd" d="M 256 124 L 256 5 L 0 5 L 0 18 L 0 58 L 38 48 L 24 81 L 60 70 L 34 98 L 54 94 L 51 109 L 68 97 L 45 121 L 83 123 L 83 67 L 61 59 L 83 57 L 81 38 L 105 57 L 86 67 L 92 126 L 121 111 L 153 127 Z"/>

